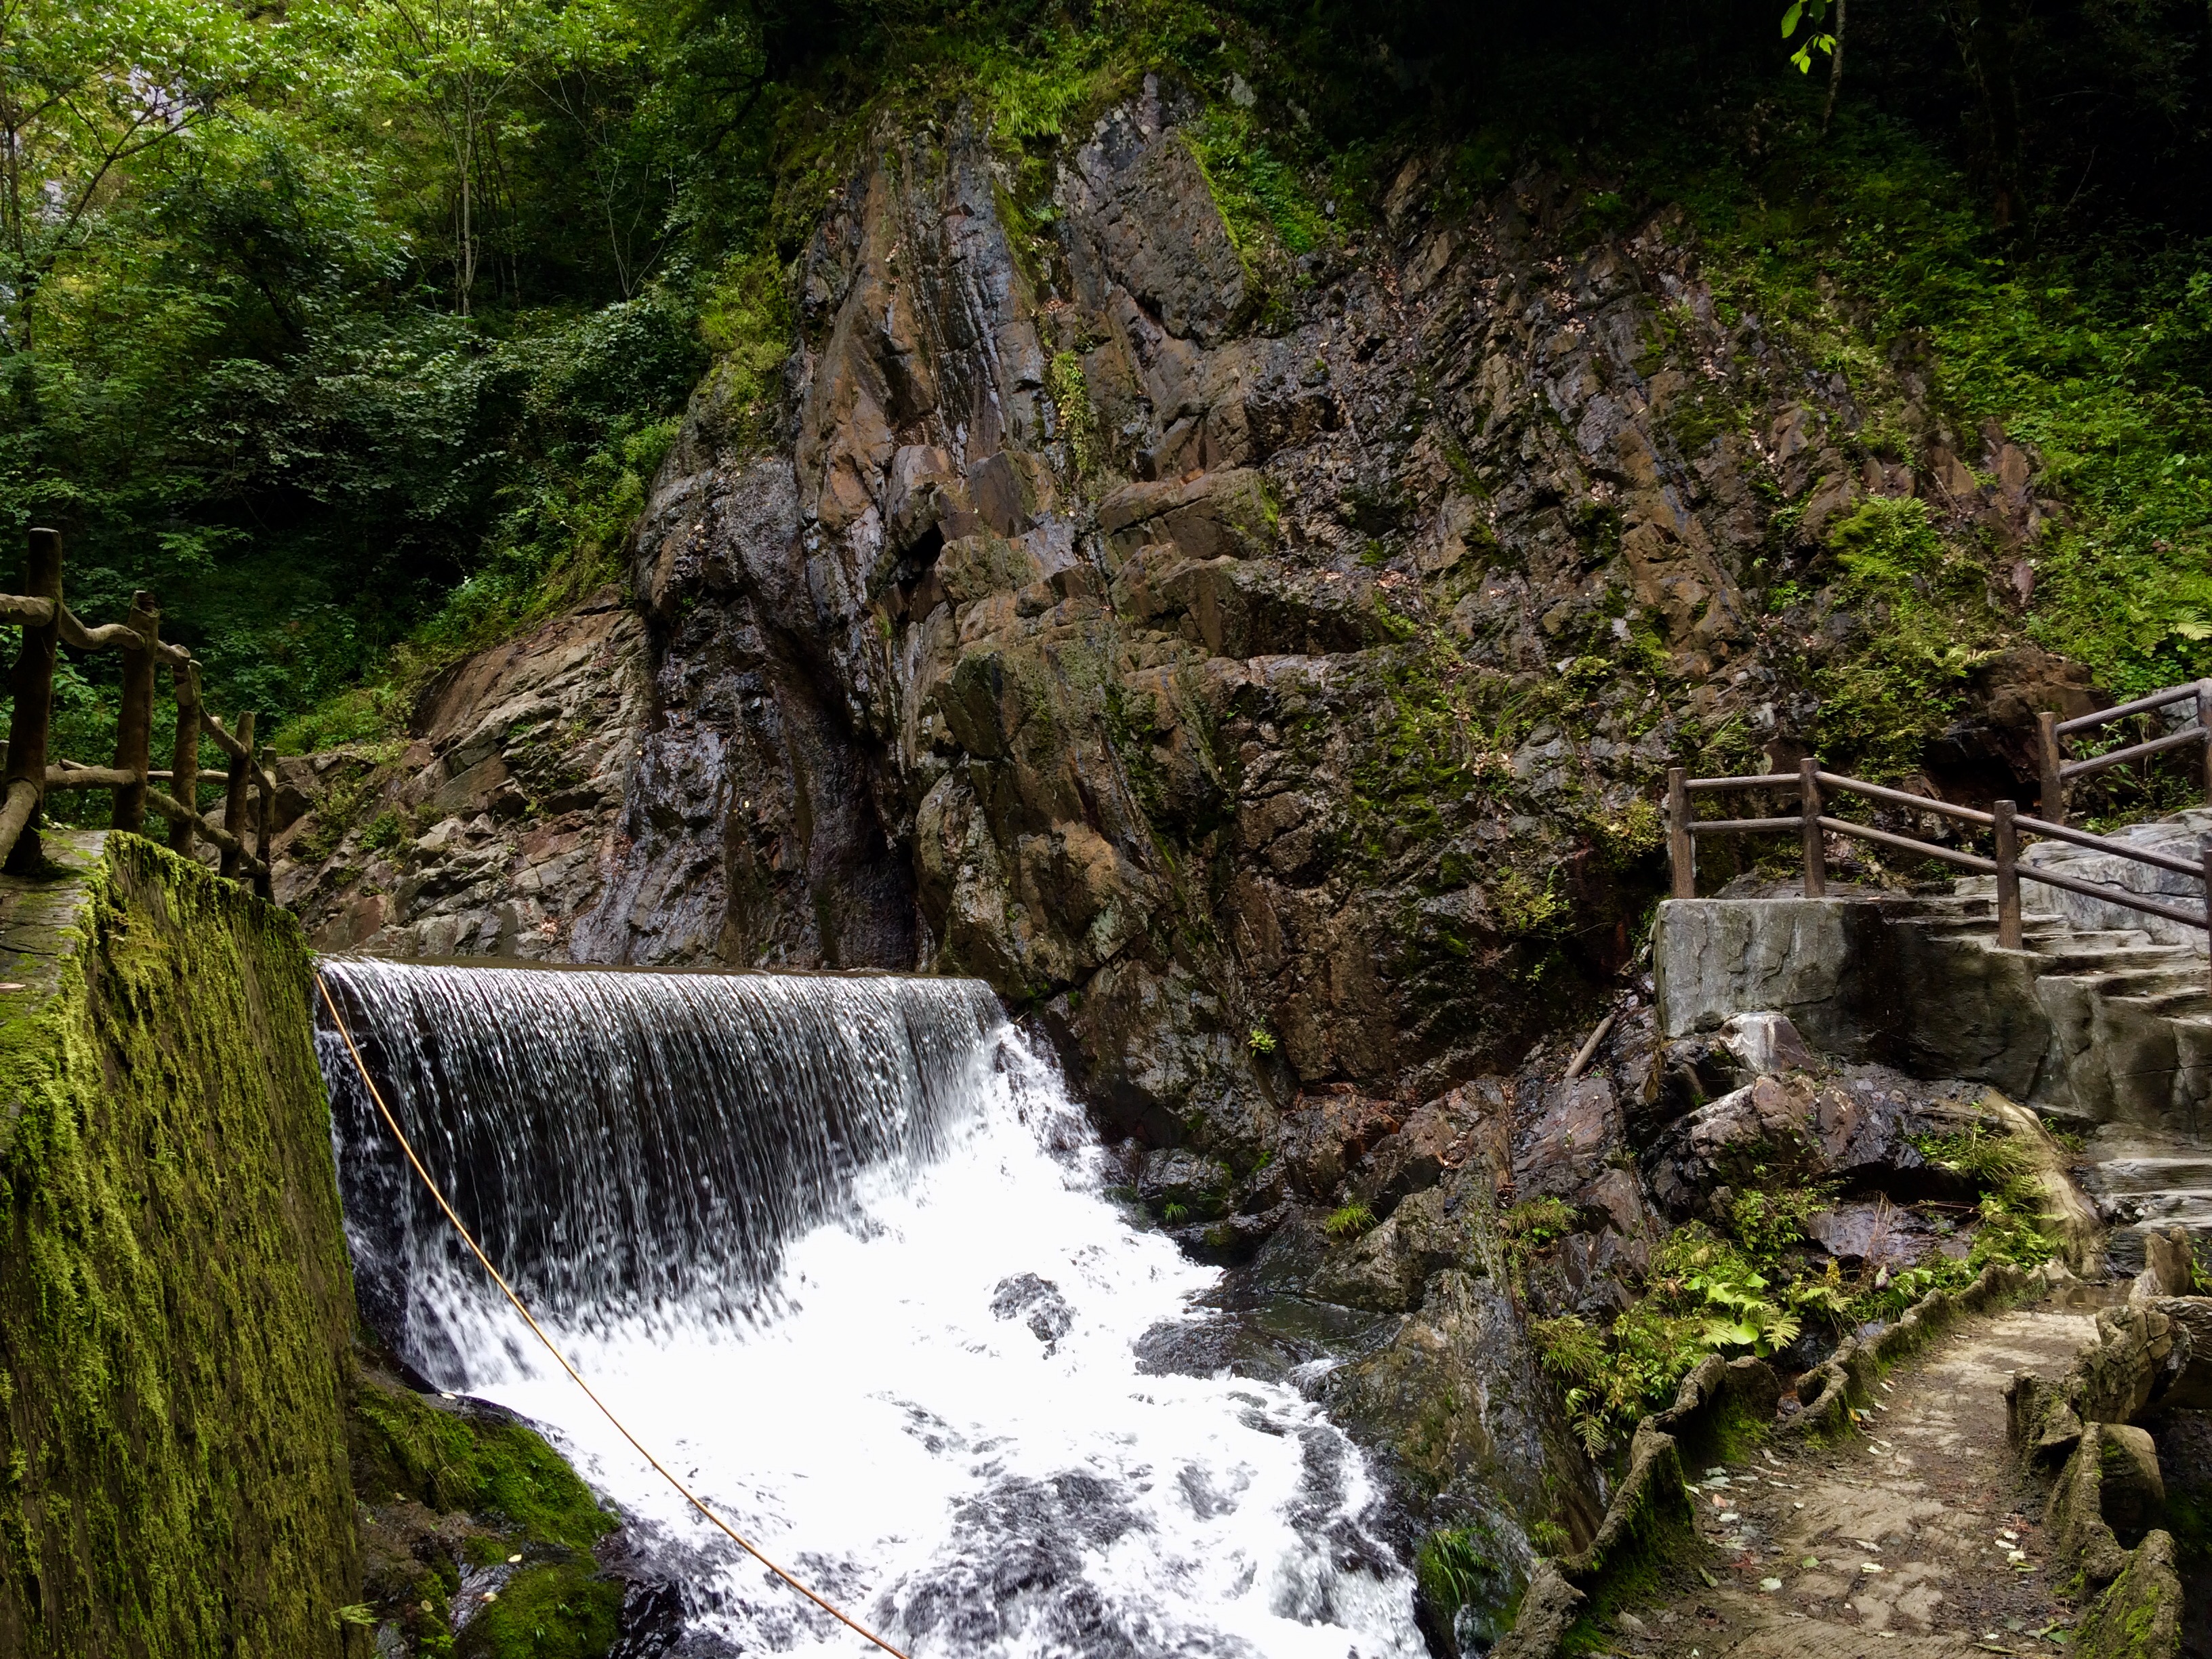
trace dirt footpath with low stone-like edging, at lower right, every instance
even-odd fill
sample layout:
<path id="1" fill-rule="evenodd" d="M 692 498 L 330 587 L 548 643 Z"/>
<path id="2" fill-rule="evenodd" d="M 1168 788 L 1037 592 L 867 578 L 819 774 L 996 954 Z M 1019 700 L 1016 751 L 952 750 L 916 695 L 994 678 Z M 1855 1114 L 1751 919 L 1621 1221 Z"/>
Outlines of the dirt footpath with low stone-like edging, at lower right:
<path id="1" fill-rule="evenodd" d="M 1964 1323 L 1889 1374 L 1863 1438 L 1692 1469 L 1699 1524 L 1728 1566 L 1697 1595 L 1619 1615 L 1615 1650 L 1697 1659 L 1964 1659 L 2066 1652 L 2066 1573 L 2004 1451 L 2013 1371 L 2064 1374 L 2086 1314 Z"/>

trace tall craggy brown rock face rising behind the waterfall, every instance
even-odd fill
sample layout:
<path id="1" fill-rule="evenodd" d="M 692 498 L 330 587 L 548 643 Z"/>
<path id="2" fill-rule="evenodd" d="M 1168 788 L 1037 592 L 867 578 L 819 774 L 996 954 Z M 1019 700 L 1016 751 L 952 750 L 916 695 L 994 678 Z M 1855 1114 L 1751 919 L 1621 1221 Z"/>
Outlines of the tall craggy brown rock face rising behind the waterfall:
<path id="1" fill-rule="evenodd" d="M 637 529 L 619 821 L 420 717 L 405 841 L 290 843 L 319 931 L 982 973 L 1239 1170 L 1301 1086 L 1433 1099 L 1617 967 L 1686 721 L 1792 719 L 1741 582 L 1763 491 L 1816 538 L 1869 487 L 1856 411 L 1721 321 L 1679 217 L 1593 241 L 1540 175 L 1440 212 L 1416 157 L 1292 259 L 1197 117 L 1148 82 L 1048 201 L 964 122 L 878 133 L 776 407 L 710 376 Z"/>

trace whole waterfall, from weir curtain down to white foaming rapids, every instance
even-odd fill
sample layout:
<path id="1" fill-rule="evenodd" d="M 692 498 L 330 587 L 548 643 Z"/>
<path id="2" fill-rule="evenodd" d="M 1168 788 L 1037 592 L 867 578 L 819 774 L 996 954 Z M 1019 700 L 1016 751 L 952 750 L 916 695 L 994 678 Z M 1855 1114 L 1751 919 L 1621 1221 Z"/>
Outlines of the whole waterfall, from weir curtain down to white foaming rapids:
<path id="1" fill-rule="evenodd" d="M 608 1405 L 916 1659 L 1413 1659 L 1360 1453 L 1148 1376 L 1212 1270 L 975 982 L 323 964 L 409 1139 Z M 535 1345 L 325 1031 L 363 1305 L 546 1427 L 679 1586 L 681 1655 L 872 1652 L 710 1531 Z"/>

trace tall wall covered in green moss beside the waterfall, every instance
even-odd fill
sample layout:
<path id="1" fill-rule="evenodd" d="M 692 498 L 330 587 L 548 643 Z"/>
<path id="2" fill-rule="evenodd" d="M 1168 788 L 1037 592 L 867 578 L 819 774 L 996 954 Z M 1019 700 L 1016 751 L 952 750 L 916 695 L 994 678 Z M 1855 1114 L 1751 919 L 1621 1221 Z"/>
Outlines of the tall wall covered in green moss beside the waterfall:
<path id="1" fill-rule="evenodd" d="M 0 989 L 0 1652 L 365 1650 L 305 945 L 150 841 L 82 852 L 58 967 Z"/>

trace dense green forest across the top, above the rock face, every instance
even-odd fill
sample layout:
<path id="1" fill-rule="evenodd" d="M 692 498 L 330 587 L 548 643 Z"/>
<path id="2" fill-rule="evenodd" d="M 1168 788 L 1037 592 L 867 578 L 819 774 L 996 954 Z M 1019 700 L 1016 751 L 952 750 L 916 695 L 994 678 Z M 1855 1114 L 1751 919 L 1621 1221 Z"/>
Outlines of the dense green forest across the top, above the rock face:
<path id="1" fill-rule="evenodd" d="M 1949 354 L 1962 414 L 2026 420 L 2106 538 L 2081 557 L 2126 571 L 2059 593 L 2053 644 L 2115 684 L 2203 672 L 2212 11 L 1781 22 L 0 0 L 7 540 L 58 524 L 86 617 L 150 588 L 217 703 L 290 743 L 385 730 L 436 664 L 617 580 L 708 361 L 774 374 L 783 272 L 872 122 L 964 104 L 1024 164 L 1164 71 L 1245 88 L 1210 166 L 1290 237 L 1356 234 L 1396 161 L 1444 146 L 1469 195 L 1531 164 L 1588 179 L 1593 234 L 1681 199 L 1781 312 L 1843 281 L 1869 327 Z M 1825 51 L 1792 64 L 1814 31 L 1834 84 Z M 97 721 L 75 675 L 64 721 Z"/>

